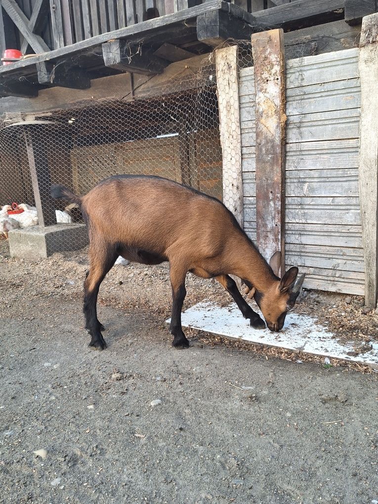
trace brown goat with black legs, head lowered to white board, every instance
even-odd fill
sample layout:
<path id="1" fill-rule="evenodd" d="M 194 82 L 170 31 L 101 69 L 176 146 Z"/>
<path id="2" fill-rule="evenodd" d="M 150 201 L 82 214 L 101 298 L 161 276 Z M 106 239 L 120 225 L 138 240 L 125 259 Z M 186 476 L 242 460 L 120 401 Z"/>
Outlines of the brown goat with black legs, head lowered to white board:
<path id="1" fill-rule="evenodd" d="M 293 267 L 280 280 L 231 212 L 215 198 L 165 178 L 143 175 L 107 178 L 82 198 L 62 185 L 53 185 L 50 194 L 79 204 L 88 225 L 90 269 L 84 282 L 84 313 L 90 346 L 106 346 L 97 319 L 97 295 L 118 256 L 142 264 L 169 261 L 170 331 L 175 347 L 189 346 L 181 328 L 188 271 L 218 280 L 257 329 L 265 328 L 264 321 L 229 275 L 248 286 L 271 331 L 282 329 L 286 312 L 294 306 L 304 275 L 296 282 L 298 269 Z M 271 262 L 279 260 L 276 253 Z"/>

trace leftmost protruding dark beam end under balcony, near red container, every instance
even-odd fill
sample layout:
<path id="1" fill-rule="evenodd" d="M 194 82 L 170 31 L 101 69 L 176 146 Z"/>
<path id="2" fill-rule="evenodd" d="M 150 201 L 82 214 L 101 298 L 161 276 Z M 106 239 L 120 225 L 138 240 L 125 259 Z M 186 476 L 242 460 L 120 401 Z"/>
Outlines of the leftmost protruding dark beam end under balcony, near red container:
<path id="1" fill-rule="evenodd" d="M 38 82 L 47 86 L 88 89 L 91 81 L 85 70 L 70 64 L 55 65 L 49 61 L 37 63 Z"/>

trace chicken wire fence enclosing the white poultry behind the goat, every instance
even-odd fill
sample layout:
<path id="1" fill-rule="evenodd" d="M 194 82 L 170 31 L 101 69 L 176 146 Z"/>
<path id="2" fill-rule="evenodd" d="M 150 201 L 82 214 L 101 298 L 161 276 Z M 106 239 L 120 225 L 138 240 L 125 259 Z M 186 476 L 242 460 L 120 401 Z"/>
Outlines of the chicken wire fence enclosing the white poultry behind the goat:
<path id="1" fill-rule="evenodd" d="M 241 44 L 241 64 L 248 56 L 249 44 Z M 0 122 L 2 213 L 14 202 L 25 210 L 8 216 L 17 221 L 13 227 L 41 224 L 37 189 L 42 224 L 67 222 L 81 229 L 75 243 L 67 242 L 72 235 L 59 235 L 62 249 L 85 246 L 80 209 L 51 200 L 50 185 L 64 184 L 82 196 L 118 174 L 158 175 L 223 199 L 214 52 L 204 57 L 200 68 L 188 64 L 143 97 L 137 88 L 134 93 L 116 101 L 91 100 L 80 109 L 56 110 L 33 120 Z"/>

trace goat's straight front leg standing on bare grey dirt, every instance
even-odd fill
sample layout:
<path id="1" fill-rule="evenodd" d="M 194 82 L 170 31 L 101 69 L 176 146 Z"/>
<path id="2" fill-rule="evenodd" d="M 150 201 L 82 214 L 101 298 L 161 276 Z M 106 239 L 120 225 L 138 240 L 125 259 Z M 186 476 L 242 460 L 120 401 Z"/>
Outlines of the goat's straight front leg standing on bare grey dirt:
<path id="1" fill-rule="evenodd" d="M 172 345 L 176 348 L 187 348 L 189 342 L 186 339 L 181 327 L 181 310 L 186 296 L 185 276 L 186 271 L 170 265 L 170 278 L 172 285 L 172 317 L 169 330 L 173 335 Z"/>

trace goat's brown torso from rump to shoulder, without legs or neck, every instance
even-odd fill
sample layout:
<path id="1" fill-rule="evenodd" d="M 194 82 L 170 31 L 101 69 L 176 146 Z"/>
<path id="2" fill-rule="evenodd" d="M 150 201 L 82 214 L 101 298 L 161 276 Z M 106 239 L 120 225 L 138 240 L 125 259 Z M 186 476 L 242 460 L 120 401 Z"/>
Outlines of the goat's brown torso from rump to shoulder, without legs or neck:
<path id="1" fill-rule="evenodd" d="M 226 230 L 238 227 L 219 200 L 155 176 L 110 177 L 83 197 L 82 206 L 91 234 L 157 253 L 173 243 L 218 248 Z"/>

